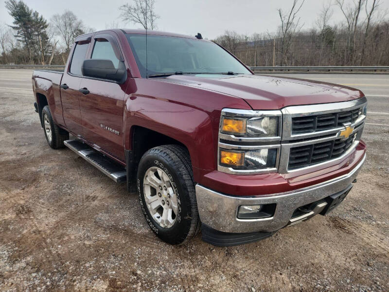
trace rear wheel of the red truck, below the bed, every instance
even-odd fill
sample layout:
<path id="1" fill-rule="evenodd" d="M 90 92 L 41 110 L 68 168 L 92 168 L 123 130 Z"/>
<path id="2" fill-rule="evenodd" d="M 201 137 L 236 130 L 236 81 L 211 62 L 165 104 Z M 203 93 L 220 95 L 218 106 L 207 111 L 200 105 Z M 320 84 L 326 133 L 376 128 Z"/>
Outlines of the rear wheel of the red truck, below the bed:
<path id="1" fill-rule="evenodd" d="M 49 106 L 42 110 L 43 129 L 46 141 L 53 149 L 65 147 L 64 141 L 69 140 L 69 133 L 55 125 Z"/>

